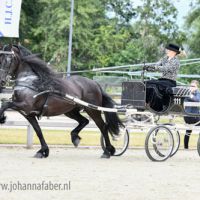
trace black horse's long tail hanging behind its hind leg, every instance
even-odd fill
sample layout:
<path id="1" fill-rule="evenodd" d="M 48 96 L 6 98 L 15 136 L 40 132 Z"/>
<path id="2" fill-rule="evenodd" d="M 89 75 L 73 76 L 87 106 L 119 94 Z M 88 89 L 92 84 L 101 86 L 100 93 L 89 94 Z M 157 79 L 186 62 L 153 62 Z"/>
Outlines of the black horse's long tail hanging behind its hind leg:
<path id="1" fill-rule="evenodd" d="M 102 106 L 107 108 L 113 108 L 116 103 L 112 98 L 102 90 Z M 120 127 L 123 127 L 122 121 L 119 119 L 117 113 L 104 112 L 108 131 L 111 134 L 119 135 Z"/>

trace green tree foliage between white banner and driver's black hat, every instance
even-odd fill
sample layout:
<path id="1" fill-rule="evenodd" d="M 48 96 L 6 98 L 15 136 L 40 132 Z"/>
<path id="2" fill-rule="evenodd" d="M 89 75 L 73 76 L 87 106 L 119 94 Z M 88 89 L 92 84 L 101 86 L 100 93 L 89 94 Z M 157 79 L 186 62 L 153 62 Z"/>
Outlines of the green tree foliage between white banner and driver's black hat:
<path id="1" fill-rule="evenodd" d="M 70 0 L 23 1 L 20 38 L 66 71 Z M 72 70 L 156 61 L 169 41 L 182 43 L 171 0 L 75 0 Z"/>

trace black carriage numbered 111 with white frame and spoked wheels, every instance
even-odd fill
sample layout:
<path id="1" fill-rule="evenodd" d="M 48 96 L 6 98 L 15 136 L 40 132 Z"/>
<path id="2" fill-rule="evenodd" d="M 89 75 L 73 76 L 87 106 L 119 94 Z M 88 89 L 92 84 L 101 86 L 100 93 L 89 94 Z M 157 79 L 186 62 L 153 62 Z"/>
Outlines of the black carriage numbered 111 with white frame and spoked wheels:
<path id="1" fill-rule="evenodd" d="M 198 102 L 185 102 L 185 98 L 191 95 L 190 88 L 188 86 L 177 86 L 172 88 L 172 93 L 169 96 L 167 107 L 163 110 L 154 110 L 150 105 L 146 104 L 146 84 L 141 80 L 126 81 L 122 83 L 122 95 L 121 95 L 121 107 L 126 109 L 126 127 L 133 125 L 131 123 L 132 117 L 139 115 L 140 117 L 148 115 L 148 112 L 153 113 L 154 116 L 161 115 L 178 115 L 178 116 L 196 116 L 193 113 L 186 112 L 187 107 L 200 107 Z M 148 112 L 146 112 L 148 111 Z M 148 119 L 148 117 L 147 117 Z M 140 127 L 146 126 L 145 118 L 144 123 L 139 123 Z M 158 120 L 156 120 L 158 121 Z M 137 124 L 138 126 L 138 124 Z M 116 155 L 122 155 L 128 147 L 129 136 L 128 130 L 124 131 L 124 135 L 121 138 L 123 142 L 122 147 L 116 153 Z M 103 138 L 102 138 L 103 139 Z M 198 153 L 199 152 L 198 140 Z M 146 135 L 145 139 L 145 151 L 147 156 L 152 161 L 164 161 L 169 157 L 176 154 L 180 146 L 180 133 L 179 128 L 173 123 L 165 124 L 153 124 L 151 129 Z M 200 154 L 199 154 L 200 155 Z"/>

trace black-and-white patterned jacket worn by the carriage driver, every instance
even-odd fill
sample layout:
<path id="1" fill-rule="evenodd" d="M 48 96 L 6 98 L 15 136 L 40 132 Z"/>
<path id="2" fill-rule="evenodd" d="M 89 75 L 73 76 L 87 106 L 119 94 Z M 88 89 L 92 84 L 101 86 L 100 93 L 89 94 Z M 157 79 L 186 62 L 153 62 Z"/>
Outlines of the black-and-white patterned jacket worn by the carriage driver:
<path id="1" fill-rule="evenodd" d="M 173 81 L 176 81 L 179 68 L 180 62 L 176 56 L 171 59 L 168 59 L 168 57 L 165 56 L 155 65 L 155 71 L 162 72 L 161 78 L 170 79 Z"/>

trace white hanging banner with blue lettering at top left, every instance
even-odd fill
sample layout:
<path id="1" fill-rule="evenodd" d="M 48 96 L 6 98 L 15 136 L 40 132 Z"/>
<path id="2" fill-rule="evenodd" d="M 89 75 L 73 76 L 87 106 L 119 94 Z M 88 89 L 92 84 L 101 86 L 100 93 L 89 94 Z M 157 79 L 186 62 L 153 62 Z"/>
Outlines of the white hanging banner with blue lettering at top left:
<path id="1" fill-rule="evenodd" d="M 22 0 L 0 0 L 0 37 L 19 37 Z"/>

